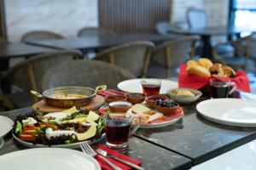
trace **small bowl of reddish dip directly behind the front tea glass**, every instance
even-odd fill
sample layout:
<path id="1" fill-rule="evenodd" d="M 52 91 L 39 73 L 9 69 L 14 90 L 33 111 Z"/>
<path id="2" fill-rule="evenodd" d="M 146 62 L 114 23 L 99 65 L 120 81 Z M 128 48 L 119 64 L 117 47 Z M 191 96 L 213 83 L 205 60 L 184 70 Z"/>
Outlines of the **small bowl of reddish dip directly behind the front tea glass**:
<path id="1" fill-rule="evenodd" d="M 131 103 L 127 101 L 114 101 L 108 104 L 112 112 L 126 112 L 131 108 Z"/>

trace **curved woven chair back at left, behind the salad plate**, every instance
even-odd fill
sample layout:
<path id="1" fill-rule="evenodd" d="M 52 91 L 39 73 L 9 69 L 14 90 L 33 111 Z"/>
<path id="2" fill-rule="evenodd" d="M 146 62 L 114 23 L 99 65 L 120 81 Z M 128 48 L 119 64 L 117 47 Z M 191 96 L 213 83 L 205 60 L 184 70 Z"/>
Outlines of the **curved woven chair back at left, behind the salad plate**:
<path id="1" fill-rule="evenodd" d="M 78 51 L 63 50 L 38 54 L 10 68 L 9 71 L 4 73 L 4 77 L 9 79 L 11 85 L 20 89 L 24 98 L 30 98 L 30 95 L 27 95 L 29 90 L 42 92 L 42 78 L 49 68 L 54 67 L 56 64 L 61 62 L 81 58 L 82 54 Z M 20 98 L 22 99 L 21 96 Z M 26 106 L 25 104 L 32 102 L 32 99 L 27 99 L 27 102 L 25 102 L 24 105 L 21 105 L 23 101 L 21 101 L 19 105 L 19 99 L 16 99 L 15 94 L 10 94 L 9 99 L 17 107 Z M 33 100 L 37 101 L 36 98 Z"/>

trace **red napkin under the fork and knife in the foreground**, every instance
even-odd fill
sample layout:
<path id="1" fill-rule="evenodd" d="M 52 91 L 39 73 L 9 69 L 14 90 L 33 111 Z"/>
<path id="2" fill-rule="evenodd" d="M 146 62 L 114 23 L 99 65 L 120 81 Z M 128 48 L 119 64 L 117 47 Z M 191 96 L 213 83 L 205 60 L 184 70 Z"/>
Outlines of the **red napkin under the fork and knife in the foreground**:
<path id="1" fill-rule="evenodd" d="M 107 146 L 105 146 L 105 145 L 103 145 L 103 144 L 99 144 L 99 145 L 97 145 L 96 147 L 97 147 L 97 148 L 100 148 L 100 149 L 102 149 L 102 150 L 105 150 L 105 151 L 107 151 L 109 154 L 111 154 L 111 155 L 113 155 L 113 156 L 116 156 L 116 157 L 119 157 L 119 158 L 121 158 L 122 160 L 130 161 L 131 163 L 134 163 L 134 164 L 136 164 L 136 165 L 138 165 L 138 166 L 140 166 L 140 165 L 142 164 L 141 161 L 137 161 L 137 160 L 135 160 L 135 159 L 133 159 L 133 158 L 131 158 L 131 157 L 129 157 L 129 156 L 125 156 L 124 154 L 121 154 L 121 153 L 119 153 L 119 152 L 116 151 L 116 150 L 112 150 L 112 149 L 108 148 Z M 132 169 L 132 167 L 129 167 L 128 165 L 126 165 L 126 164 L 124 164 L 124 163 L 122 163 L 122 162 L 120 162 L 120 161 L 117 161 L 117 160 L 115 160 L 115 159 L 113 159 L 113 158 L 110 158 L 110 157 L 108 158 L 108 157 L 107 157 L 107 159 L 108 159 L 109 161 L 113 162 L 113 164 L 115 164 L 116 166 L 120 167 L 122 170 L 130 170 L 130 169 Z M 96 160 L 100 163 L 102 169 L 105 169 L 105 170 L 112 170 L 112 169 L 113 169 L 112 167 L 110 167 L 110 166 L 108 165 L 108 163 L 106 163 L 105 161 L 102 161 L 102 159 L 99 158 L 99 157 L 97 157 L 97 156 L 96 156 Z"/>

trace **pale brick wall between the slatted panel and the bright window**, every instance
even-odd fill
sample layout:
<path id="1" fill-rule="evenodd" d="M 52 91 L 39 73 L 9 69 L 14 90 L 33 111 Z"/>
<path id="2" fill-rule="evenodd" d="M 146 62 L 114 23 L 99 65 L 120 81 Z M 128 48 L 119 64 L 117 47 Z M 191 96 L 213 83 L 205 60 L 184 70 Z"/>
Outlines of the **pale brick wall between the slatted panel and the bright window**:
<path id="1" fill-rule="evenodd" d="M 172 0 L 172 22 L 185 22 L 186 10 L 202 8 L 208 15 L 208 26 L 227 26 L 229 0 Z"/>

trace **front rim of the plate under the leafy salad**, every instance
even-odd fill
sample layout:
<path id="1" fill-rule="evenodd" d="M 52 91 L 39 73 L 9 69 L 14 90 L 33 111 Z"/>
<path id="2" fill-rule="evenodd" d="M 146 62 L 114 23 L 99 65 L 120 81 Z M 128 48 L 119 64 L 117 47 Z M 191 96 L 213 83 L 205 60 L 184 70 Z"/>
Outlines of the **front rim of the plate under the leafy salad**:
<path id="1" fill-rule="evenodd" d="M 100 139 L 96 139 L 94 141 L 88 141 L 89 144 L 95 144 L 97 142 L 100 142 L 102 139 L 104 139 L 106 136 L 105 133 L 102 134 L 102 137 Z M 77 143 L 73 143 L 73 144 L 56 144 L 56 145 L 44 145 L 44 144 L 32 144 L 30 142 L 26 142 L 26 141 L 23 141 L 19 138 L 17 138 L 15 136 L 15 134 L 13 133 L 13 137 L 15 140 L 17 140 L 20 144 L 22 145 L 25 145 L 26 147 L 29 147 L 29 148 L 47 148 L 47 147 L 51 147 L 51 148 L 69 148 L 69 149 L 76 149 L 76 148 L 80 148 L 80 143 L 83 143 L 83 142 L 77 142 Z"/>

